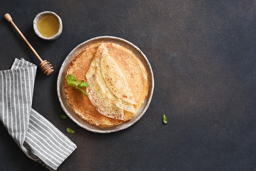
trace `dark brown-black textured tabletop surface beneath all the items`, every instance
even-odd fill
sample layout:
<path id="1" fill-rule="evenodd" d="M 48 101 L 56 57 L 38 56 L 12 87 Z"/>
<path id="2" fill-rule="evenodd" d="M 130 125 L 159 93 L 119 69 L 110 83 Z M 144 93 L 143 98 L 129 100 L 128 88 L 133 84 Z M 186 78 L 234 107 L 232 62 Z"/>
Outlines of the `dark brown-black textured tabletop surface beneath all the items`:
<path id="1" fill-rule="evenodd" d="M 2 0 L 0 70 L 14 58 L 39 64 L 3 15 L 13 21 L 54 74 L 38 68 L 32 107 L 76 143 L 66 170 L 256 170 L 255 0 Z M 42 11 L 63 21 L 51 42 L 36 36 Z M 78 44 L 112 35 L 138 46 L 155 76 L 153 99 L 128 129 L 95 134 L 80 128 L 56 93 L 58 71 Z M 162 115 L 168 123 L 162 122 Z M 72 127 L 76 133 L 65 131 Z M 0 170 L 45 171 L 27 158 L 0 124 Z"/>

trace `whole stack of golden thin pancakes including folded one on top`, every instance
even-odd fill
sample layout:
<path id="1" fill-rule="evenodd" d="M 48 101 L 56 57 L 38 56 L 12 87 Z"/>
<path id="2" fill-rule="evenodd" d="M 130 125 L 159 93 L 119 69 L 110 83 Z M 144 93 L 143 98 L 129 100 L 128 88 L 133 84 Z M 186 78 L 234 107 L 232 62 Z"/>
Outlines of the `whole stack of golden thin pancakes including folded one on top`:
<path id="1" fill-rule="evenodd" d="M 97 127 L 112 127 L 136 116 L 148 96 L 148 74 L 138 57 L 124 46 L 96 42 L 77 53 L 65 70 L 89 83 L 88 96 L 64 81 L 70 108 Z"/>

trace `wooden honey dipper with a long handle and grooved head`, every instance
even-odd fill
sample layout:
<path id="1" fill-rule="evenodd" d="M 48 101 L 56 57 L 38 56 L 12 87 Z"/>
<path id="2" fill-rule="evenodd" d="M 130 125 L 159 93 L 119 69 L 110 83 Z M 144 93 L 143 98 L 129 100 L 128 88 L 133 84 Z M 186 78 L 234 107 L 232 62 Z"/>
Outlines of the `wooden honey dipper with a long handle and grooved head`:
<path id="1" fill-rule="evenodd" d="M 36 57 L 39 59 L 40 63 L 40 68 L 43 71 L 43 73 L 45 75 L 50 75 L 52 74 L 52 72 L 54 72 L 53 66 L 52 64 L 50 64 L 47 60 L 44 60 L 38 55 L 38 53 L 36 52 L 36 50 L 31 46 L 31 44 L 27 41 L 26 37 L 21 33 L 20 29 L 18 29 L 18 27 L 16 26 L 16 24 L 14 24 L 11 15 L 9 13 L 4 14 L 4 18 L 10 22 L 13 27 L 16 29 L 16 31 L 18 31 L 18 33 L 20 34 L 20 36 L 24 39 L 24 41 L 27 43 L 27 45 L 29 46 L 29 48 L 31 48 L 31 50 L 34 52 L 34 54 L 36 55 Z"/>

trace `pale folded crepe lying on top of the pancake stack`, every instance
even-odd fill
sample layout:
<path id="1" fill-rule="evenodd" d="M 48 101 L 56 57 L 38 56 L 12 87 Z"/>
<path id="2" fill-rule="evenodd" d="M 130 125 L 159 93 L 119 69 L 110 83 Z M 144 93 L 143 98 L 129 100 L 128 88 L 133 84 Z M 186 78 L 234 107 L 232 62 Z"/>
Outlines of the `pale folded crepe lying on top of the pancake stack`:
<path id="1" fill-rule="evenodd" d="M 98 47 L 85 77 L 90 85 L 88 97 L 101 114 L 124 121 L 124 110 L 135 113 L 132 91 L 104 44 Z"/>

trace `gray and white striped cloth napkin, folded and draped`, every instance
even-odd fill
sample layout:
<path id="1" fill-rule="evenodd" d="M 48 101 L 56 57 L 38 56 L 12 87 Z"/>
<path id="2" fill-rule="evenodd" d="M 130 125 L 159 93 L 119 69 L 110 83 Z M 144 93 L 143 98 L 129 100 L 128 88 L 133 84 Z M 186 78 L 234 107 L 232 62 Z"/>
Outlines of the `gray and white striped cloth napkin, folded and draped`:
<path id="1" fill-rule="evenodd" d="M 27 157 L 56 170 L 76 145 L 31 108 L 36 68 L 22 58 L 0 71 L 0 120 Z"/>

